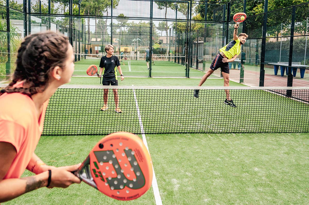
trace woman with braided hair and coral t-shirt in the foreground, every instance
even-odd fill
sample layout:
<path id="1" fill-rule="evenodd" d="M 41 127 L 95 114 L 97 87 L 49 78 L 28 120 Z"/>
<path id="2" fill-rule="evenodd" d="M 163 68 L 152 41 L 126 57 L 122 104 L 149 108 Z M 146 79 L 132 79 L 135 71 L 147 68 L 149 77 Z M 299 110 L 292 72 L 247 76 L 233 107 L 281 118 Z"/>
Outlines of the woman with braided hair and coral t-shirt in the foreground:
<path id="1" fill-rule="evenodd" d="M 21 43 L 13 80 L 0 91 L 0 203 L 40 187 L 81 182 L 70 172 L 79 165 L 51 167 L 34 153 L 48 100 L 70 82 L 73 61 L 72 46 L 57 33 L 33 34 Z M 26 168 L 36 175 L 20 178 Z"/>

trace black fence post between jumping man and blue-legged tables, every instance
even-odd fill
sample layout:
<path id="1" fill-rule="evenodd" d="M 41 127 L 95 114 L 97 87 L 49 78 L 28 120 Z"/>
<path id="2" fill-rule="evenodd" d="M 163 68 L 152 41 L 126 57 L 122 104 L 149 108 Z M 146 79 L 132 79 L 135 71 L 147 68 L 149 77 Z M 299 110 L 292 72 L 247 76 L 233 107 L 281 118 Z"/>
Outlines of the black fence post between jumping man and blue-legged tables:
<path id="1" fill-rule="evenodd" d="M 262 31 L 262 47 L 261 47 L 261 65 L 260 65 L 260 87 L 264 86 L 265 79 L 265 49 L 266 49 L 266 31 L 267 31 L 267 11 L 268 11 L 268 0 L 264 3 L 264 21 L 263 21 L 263 31 Z"/>

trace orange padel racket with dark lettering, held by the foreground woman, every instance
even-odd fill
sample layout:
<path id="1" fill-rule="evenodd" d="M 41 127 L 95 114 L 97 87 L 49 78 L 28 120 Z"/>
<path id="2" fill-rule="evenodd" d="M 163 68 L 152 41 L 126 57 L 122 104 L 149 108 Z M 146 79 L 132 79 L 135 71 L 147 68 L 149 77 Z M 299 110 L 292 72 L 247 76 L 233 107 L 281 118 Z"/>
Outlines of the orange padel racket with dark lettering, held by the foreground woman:
<path id="1" fill-rule="evenodd" d="M 101 139 L 72 173 L 109 197 L 133 200 L 150 188 L 152 162 L 138 136 L 116 132 Z"/>

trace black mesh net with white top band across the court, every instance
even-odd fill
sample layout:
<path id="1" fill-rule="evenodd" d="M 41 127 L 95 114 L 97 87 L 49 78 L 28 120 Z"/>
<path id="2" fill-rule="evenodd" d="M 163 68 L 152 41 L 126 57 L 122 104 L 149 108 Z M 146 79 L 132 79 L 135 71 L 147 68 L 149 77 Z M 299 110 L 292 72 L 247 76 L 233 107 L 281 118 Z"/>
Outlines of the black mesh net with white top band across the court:
<path id="1" fill-rule="evenodd" d="M 108 110 L 100 111 L 108 88 Z M 118 89 L 121 113 L 115 112 Z M 199 97 L 193 97 L 199 88 Z M 44 135 L 308 132 L 309 87 L 74 86 L 58 88 L 46 111 Z M 287 90 L 299 98 L 288 98 Z M 302 100 L 300 100 L 302 99 Z"/>

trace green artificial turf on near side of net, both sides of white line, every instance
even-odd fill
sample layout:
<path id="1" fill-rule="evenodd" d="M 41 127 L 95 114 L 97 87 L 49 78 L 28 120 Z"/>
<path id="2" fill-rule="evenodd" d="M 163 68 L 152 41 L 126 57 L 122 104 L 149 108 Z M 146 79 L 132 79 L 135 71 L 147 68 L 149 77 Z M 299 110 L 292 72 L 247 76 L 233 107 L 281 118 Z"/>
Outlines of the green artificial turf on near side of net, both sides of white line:
<path id="1" fill-rule="evenodd" d="M 103 136 L 42 136 L 35 153 L 51 166 L 82 162 Z M 163 204 L 307 204 L 309 135 L 146 135 Z M 25 171 L 22 177 L 32 175 Z M 155 204 L 152 187 L 133 201 L 86 183 L 40 188 L 4 205 Z"/>

